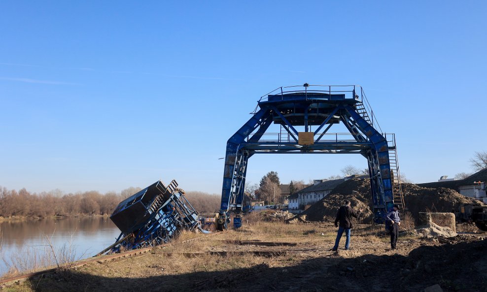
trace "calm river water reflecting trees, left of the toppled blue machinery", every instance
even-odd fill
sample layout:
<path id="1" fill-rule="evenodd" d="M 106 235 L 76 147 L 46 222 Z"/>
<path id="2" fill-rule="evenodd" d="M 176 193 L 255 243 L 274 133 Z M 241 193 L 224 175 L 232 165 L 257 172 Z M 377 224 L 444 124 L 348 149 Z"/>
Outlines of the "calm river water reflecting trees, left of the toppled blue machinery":
<path id="1" fill-rule="evenodd" d="M 53 250 L 72 260 L 94 256 L 120 235 L 105 216 L 9 219 L 0 223 L 0 276 L 45 268 L 55 261 Z"/>

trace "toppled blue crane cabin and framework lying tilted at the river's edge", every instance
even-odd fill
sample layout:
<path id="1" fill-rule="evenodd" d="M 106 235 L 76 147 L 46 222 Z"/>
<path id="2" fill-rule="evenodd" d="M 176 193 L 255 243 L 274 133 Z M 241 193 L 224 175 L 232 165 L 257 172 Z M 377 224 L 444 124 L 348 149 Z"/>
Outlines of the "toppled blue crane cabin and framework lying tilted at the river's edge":
<path id="1" fill-rule="evenodd" d="M 99 255 L 167 243 L 180 230 L 199 227 L 198 213 L 175 180 L 168 186 L 157 181 L 123 200 L 110 219 L 122 233 Z"/>

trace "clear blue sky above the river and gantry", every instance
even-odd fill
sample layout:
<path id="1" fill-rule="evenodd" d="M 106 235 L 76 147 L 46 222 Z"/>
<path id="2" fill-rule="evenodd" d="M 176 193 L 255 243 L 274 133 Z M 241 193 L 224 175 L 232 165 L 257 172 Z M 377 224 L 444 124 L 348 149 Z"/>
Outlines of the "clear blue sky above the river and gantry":
<path id="1" fill-rule="evenodd" d="M 233 3 L 231 3 L 233 2 Z M 363 86 L 415 182 L 486 150 L 485 1 L 2 1 L 0 186 L 221 192 L 226 140 L 287 85 Z M 257 155 L 247 180 L 365 168 Z"/>

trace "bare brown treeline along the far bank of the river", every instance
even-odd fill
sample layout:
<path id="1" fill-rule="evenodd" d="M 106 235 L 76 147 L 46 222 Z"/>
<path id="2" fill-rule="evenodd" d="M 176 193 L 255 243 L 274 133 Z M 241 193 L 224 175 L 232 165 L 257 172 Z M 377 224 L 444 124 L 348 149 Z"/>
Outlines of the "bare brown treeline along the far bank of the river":
<path id="1" fill-rule="evenodd" d="M 77 215 L 110 215 L 115 207 L 140 188 L 128 188 L 120 193 L 97 191 L 64 194 L 59 190 L 30 193 L 0 187 L 0 217 L 52 217 Z M 220 197 L 203 192 L 187 192 L 186 198 L 199 213 L 219 209 Z"/>

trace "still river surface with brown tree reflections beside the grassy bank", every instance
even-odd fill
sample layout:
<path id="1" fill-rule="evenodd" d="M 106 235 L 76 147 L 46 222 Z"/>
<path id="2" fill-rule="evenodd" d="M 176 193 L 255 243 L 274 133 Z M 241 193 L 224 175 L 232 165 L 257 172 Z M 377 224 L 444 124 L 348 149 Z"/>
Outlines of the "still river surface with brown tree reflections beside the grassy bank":
<path id="1" fill-rule="evenodd" d="M 92 257 L 115 242 L 120 230 L 109 218 L 79 217 L 1 222 L 0 275 L 8 270 L 19 255 L 41 257 L 47 247 L 46 235 L 56 249 L 63 246 L 75 253 L 75 259 Z M 28 258 L 28 256 L 24 258 Z"/>

